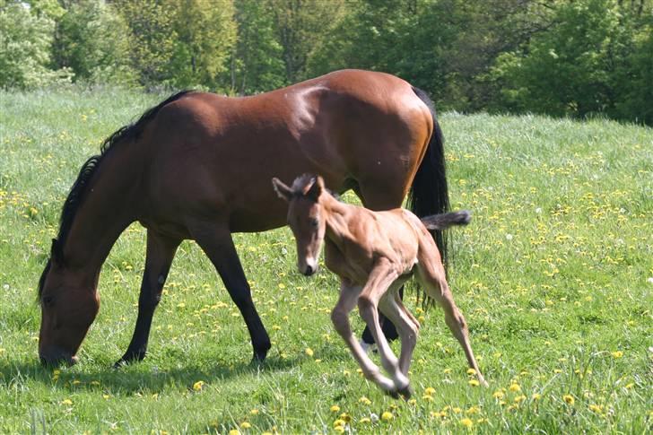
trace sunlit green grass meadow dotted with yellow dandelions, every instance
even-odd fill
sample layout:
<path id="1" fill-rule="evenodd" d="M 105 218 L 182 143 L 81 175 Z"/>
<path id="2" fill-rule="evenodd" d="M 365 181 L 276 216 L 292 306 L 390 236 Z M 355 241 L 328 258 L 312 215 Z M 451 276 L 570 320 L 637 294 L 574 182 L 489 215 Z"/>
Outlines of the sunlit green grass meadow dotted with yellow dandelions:
<path id="1" fill-rule="evenodd" d="M 185 242 L 149 356 L 110 369 L 135 323 L 144 230 L 133 225 L 102 270 L 81 363 L 41 368 L 35 287 L 65 195 L 101 140 L 160 99 L 0 93 L 0 432 L 332 432 L 341 413 L 357 432 L 650 431 L 653 131 L 603 120 L 441 117 L 452 203 L 474 213 L 453 232 L 451 286 L 490 388 L 467 383 L 440 309 L 417 310 L 415 400 L 383 396 L 330 325 L 335 277 L 298 274 L 287 229 L 236 236 L 274 343 L 262 367 L 248 365 L 247 330 L 212 265 Z"/>

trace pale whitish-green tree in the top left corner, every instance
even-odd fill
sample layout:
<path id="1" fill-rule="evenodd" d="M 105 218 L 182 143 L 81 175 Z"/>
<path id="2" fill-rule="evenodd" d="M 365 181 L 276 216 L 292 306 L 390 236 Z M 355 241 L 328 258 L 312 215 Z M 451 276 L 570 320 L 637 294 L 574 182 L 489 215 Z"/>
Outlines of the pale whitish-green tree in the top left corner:
<path id="1" fill-rule="evenodd" d="M 66 70 L 48 67 L 54 25 L 30 4 L 0 3 L 0 87 L 35 88 L 69 80 Z"/>

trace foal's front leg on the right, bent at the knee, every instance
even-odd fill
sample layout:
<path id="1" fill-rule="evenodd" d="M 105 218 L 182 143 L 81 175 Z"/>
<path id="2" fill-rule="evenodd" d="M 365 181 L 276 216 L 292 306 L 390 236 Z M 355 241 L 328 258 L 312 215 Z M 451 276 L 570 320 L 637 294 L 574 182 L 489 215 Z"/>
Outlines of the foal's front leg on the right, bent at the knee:
<path id="1" fill-rule="evenodd" d="M 379 300 L 396 278 L 397 273 L 392 265 L 386 263 L 377 265 L 370 273 L 368 282 L 361 291 L 361 296 L 358 300 L 358 309 L 361 313 L 361 318 L 370 326 L 374 340 L 379 345 L 381 365 L 395 382 L 396 391 L 404 396 L 410 396 L 410 382 L 399 369 L 399 361 L 397 361 L 395 354 L 390 349 L 386 336 L 383 335 L 381 326 L 379 325 Z"/>

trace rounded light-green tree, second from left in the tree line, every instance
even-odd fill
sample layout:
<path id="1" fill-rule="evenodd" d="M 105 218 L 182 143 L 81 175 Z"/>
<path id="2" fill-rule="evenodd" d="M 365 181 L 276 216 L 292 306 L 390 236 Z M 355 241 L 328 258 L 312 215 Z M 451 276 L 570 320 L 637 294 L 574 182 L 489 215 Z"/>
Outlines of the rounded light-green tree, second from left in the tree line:
<path id="1" fill-rule="evenodd" d="M 104 0 L 74 2 L 57 21 L 53 62 L 68 67 L 74 81 L 134 84 L 129 30 Z"/>

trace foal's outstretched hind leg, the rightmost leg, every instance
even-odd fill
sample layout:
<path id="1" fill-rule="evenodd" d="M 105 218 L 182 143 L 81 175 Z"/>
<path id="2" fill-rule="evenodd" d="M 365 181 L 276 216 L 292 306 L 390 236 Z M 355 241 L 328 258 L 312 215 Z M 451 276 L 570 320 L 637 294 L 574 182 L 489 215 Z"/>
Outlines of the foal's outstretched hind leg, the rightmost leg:
<path id="1" fill-rule="evenodd" d="M 432 240 L 430 240 L 432 241 Z M 435 244 L 433 243 L 435 249 Z M 432 250 L 431 250 L 432 252 Z M 422 253 L 420 253 L 422 257 Z M 469 331 L 467 329 L 467 322 L 463 313 L 457 308 L 454 302 L 454 297 L 448 288 L 447 280 L 445 279 L 444 266 L 440 261 L 440 257 L 426 257 L 419 258 L 418 276 L 423 285 L 424 291 L 427 291 L 429 296 L 436 300 L 444 310 L 444 319 L 451 333 L 456 337 L 458 343 L 463 347 L 465 356 L 469 367 L 476 371 L 478 381 L 487 387 L 487 382 L 481 370 L 478 368 L 474 352 L 472 352 L 472 344 L 469 342 Z"/>

